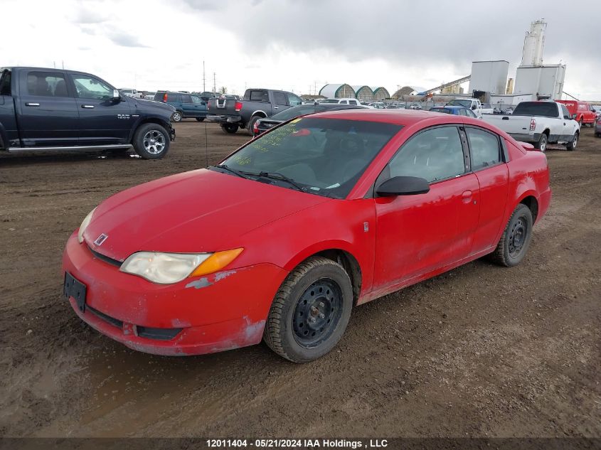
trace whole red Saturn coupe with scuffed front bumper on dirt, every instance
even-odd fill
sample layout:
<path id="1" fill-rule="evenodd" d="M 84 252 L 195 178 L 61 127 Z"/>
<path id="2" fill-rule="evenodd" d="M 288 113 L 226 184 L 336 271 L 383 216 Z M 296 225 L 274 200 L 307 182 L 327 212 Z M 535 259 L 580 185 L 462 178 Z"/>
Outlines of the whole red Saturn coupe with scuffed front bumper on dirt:
<path id="1" fill-rule="evenodd" d="M 306 362 L 358 305 L 486 255 L 516 266 L 550 200 L 545 154 L 481 120 L 322 112 L 104 200 L 68 240 L 63 292 L 135 350 L 264 340 Z"/>

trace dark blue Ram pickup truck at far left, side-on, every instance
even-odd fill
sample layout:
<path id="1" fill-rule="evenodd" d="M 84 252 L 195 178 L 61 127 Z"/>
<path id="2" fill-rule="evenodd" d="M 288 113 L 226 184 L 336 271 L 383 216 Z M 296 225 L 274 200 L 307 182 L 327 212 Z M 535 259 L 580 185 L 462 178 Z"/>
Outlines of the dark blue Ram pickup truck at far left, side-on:
<path id="1" fill-rule="evenodd" d="M 97 151 L 132 147 L 159 159 L 175 139 L 174 107 L 121 95 L 89 73 L 0 69 L 0 150 Z"/>

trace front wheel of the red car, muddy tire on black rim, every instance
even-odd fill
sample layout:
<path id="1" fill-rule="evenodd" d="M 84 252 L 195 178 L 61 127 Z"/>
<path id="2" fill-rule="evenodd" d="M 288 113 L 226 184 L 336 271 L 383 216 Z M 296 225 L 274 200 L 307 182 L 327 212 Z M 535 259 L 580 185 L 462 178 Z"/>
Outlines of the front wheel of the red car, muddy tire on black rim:
<path id="1" fill-rule="evenodd" d="M 311 257 L 288 274 L 275 294 L 263 340 L 282 358 L 307 363 L 334 348 L 352 307 L 349 274 L 331 259 Z"/>

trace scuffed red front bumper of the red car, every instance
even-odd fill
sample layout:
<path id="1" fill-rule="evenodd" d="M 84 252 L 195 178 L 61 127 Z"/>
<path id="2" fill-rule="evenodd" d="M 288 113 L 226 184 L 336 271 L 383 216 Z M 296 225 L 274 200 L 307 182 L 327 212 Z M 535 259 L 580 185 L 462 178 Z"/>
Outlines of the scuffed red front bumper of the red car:
<path id="1" fill-rule="evenodd" d="M 129 348 L 157 355 L 200 355 L 259 343 L 287 275 L 263 263 L 154 284 L 98 259 L 75 233 L 63 254 L 65 272 L 86 286 L 83 311 L 69 298 L 83 321 Z M 157 332 L 161 329 L 165 333 Z"/>

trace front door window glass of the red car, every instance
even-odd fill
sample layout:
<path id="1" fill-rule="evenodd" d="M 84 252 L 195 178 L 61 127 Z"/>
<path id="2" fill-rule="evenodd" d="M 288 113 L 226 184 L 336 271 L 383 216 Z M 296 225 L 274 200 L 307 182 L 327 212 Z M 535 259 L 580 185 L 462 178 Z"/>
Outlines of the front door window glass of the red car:
<path id="1" fill-rule="evenodd" d="M 390 177 L 417 176 L 432 183 L 462 175 L 463 159 L 457 127 L 438 127 L 411 138 L 388 167 Z"/>

